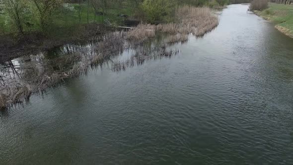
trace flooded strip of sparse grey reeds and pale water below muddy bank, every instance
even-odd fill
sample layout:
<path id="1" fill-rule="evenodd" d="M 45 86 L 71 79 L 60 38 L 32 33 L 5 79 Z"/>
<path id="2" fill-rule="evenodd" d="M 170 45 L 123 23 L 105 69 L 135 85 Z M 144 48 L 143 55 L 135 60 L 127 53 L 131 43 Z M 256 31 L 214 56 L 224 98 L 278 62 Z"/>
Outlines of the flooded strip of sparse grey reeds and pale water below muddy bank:
<path id="1" fill-rule="evenodd" d="M 32 93 L 43 92 L 48 87 L 65 82 L 65 79 L 87 74 L 89 67 L 96 70 L 106 64 L 114 72 L 126 71 L 127 68 L 143 65 L 147 60 L 179 53 L 178 49 L 171 50 L 164 44 L 163 40 L 169 37 L 165 34 L 158 34 L 156 39 L 145 45 L 128 43 L 123 35 L 124 32 L 114 32 L 89 44 L 68 44 L 45 53 L 4 62 L 0 66 L 0 109 L 23 103 L 24 99 L 29 100 Z M 175 42 L 172 41 L 172 44 Z"/>

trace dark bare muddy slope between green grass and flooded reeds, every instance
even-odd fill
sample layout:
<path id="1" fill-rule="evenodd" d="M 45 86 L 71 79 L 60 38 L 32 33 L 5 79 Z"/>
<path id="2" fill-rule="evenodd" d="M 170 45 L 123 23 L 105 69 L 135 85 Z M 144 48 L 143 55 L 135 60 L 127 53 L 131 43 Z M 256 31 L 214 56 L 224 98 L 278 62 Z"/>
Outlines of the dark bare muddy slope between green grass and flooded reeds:
<path id="1" fill-rule="evenodd" d="M 59 29 L 60 30 L 60 29 Z M 80 25 L 74 29 L 62 29 L 59 34 L 44 35 L 41 32 L 30 32 L 22 35 L 0 36 L 0 63 L 17 57 L 48 51 L 68 43 L 77 44 L 95 40 L 99 35 L 115 31 L 114 27 L 102 24 Z"/>

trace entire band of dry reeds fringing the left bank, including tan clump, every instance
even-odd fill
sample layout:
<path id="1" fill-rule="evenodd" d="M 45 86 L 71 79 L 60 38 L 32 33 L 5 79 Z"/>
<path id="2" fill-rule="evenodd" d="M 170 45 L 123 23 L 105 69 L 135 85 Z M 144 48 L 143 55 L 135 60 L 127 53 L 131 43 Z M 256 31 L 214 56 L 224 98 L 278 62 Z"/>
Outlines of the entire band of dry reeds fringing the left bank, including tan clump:
<path id="1" fill-rule="evenodd" d="M 28 100 L 32 93 L 39 93 L 64 82 L 65 79 L 85 74 L 89 69 L 94 69 L 105 62 L 112 63 L 113 71 L 121 71 L 135 64 L 142 65 L 147 59 L 170 57 L 179 51 L 167 49 L 166 44 L 184 43 L 190 33 L 202 37 L 219 24 L 218 16 L 209 7 L 183 6 L 176 10 L 175 15 L 174 23 L 140 24 L 126 32 L 108 30 L 107 33 L 98 34 L 103 30 L 97 29 L 96 26 L 91 30 L 84 28 L 78 36 L 90 37 L 91 42 L 88 45 L 77 46 L 74 49 L 76 46 L 72 44 L 63 48 L 67 50 L 66 53 L 57 57 L 40 51 L 37 56 L 30 54 L 22 59 L 23 64 L 18 64 L 19 62 L 15 64 L 11 60 L 4 62 L 0 68 L 0 108 L 9 108 L 14 104 L 22 103 Z M 132 57 L 122 62 L 111 61 L 111 57 L 121 54 L 125 49 L 137 48 L 154 38 L 157 32 L 168 33 L 169 37 L 162 40 L 155 48 L 145 49 L 142 46 L 142 49 L 135 50 L 136 53 Z"/>

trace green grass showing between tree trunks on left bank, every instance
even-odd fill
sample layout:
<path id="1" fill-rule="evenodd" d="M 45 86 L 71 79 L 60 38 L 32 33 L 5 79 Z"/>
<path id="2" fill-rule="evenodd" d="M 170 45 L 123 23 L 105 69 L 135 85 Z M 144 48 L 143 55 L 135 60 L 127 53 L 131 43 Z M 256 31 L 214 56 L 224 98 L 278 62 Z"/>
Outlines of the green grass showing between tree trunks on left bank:
<path id="1" fill-rule="evenodd" d="M 79 4 L 73 4 L 75 11 L 57 14 L 54 17 L 52 17 L 51 22 L 51 28 L 52 30 L 60 29 L 60 28 L 73 28 L 76 27 L 79 24 L 86 24 L 87 23 L 87 4 L 81 4 L 81 19 L 79 21 L 78 16 L 78 8 Z M 117 16 L 120 13 L 131 15 L 131 8 L 127 8 L 127 5 L 123 6 L 121 10 L 119 10 L 119 6 L 112 6 L 113 8 L 109 9 L 108 12 L 102 16 L 102 15 L 96 15 L 95 11 L 92 7 L 89 7 L 89 13 L 88 13 L 88 22 L 89 23 L 103 23 L 103 20 L 108 19 L 112 24 L 120 25 L 123 23 L 123 19 L 119 16 Z M 102 11 L 102 10 L 100 10 Z M 37 20 L 32 19 L 31 20 L 33 27 L 27 28 L 24 26 L 24 31 L 41 31 L 40 26 L 38 26 Z M 9 25 L 5 24 L 5 17 L 3 14 L 0 14 L 0 35 L 1 34 L 10 34 L 15 33 L 15 31 L 12 31 Z"/>

